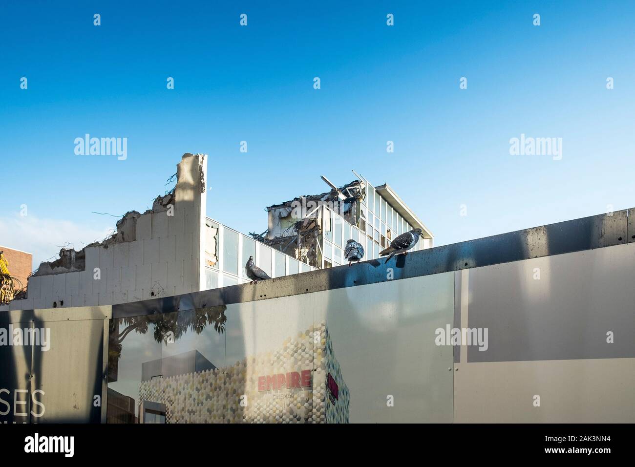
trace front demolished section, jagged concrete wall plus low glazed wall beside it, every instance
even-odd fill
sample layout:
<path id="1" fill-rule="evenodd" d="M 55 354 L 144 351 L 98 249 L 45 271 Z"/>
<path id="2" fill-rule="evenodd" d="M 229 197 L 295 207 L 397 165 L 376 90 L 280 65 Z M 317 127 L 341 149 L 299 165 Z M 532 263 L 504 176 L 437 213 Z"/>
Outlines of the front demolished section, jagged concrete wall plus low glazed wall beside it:
<path id="1" fill-rule="evenodd" d="M 121 304 L 246 283 L 250 255 L 271 277 L 315 269 L 207 217 L 206 176 L 206 154 L 184 154 L 176 186 L 151 209 L 127 212 L 103 241 L 62 248 L 0 311 Z"/>

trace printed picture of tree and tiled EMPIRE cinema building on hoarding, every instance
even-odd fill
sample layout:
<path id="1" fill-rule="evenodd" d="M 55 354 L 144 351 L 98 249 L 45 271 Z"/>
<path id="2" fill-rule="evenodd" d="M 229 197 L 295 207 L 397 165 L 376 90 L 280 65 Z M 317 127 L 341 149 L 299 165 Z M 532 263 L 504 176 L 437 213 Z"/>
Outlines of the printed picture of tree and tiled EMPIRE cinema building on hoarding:
<path id="1" fill-rule="evenodd" d="M 349 421 L 349 389 L 326 323 L 283 341 L 264 326 L 257 335 L 274 348 L 228 364 L 225 309 L 112 320 L 109 423 Z"/>

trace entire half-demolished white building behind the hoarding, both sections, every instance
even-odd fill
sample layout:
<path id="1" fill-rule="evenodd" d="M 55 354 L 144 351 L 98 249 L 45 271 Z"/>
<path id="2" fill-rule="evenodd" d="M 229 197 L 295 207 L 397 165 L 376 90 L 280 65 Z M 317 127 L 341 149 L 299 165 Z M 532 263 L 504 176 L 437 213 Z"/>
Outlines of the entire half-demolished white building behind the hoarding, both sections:
<path id="1" fill-rule="evenodd" d="M 379 257 L 398 234 L 415 227 L 432 247 L 432 234 L 387 184 L 359 177 L 331 190 L 267 208 L 268 228 L 250 236 L 206 216 L 205 154 L 186 153 L 176 186 L 143 213 L 131 210 L 103 241 L 82 250 L 62 248 L 43 262 L 25 293 L 6 309 L 46 309 L 135 302 L 246 283 L 250 256 L 272 278 L 344 264 L 352 238 L 363 261 Z"/>

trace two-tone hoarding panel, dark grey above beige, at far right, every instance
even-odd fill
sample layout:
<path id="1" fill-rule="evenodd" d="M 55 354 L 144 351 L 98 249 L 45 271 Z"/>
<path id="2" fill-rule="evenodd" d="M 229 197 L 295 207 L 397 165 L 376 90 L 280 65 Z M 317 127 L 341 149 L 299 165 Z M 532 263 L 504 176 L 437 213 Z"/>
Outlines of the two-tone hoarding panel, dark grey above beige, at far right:
<path id="1" fill-rule="evenodd" d="M 635 421 L 635 244 L 462 272 L 455 422 Z"/>

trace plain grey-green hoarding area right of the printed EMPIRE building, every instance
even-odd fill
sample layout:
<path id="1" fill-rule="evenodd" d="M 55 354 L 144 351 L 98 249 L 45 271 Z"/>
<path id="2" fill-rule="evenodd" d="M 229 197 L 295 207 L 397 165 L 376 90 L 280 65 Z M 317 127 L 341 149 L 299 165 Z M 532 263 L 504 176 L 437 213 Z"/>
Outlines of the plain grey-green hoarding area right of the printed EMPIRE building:
<path id="1" fill-rule="evenodd" d="M 451 423 L 454 273 L 340 288 L 314 296 L 350 393 L 351 423 Z M 394 405 L 388 398 L 394 398 Z"/>

